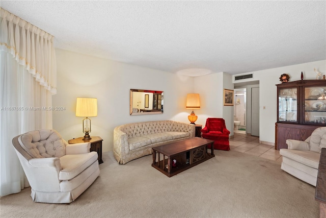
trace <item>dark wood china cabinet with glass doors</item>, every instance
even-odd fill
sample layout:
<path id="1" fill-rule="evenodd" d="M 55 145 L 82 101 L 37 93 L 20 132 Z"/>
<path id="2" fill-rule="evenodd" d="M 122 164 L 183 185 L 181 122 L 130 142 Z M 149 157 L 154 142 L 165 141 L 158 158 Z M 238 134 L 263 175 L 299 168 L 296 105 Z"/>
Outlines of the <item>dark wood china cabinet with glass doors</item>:
<path id="1" fill-rule="evenodd" d="M 287 149 L 286 139 L 306 140 L 326 126 L 326 80 L 277 84 L 275 149 Z"/>

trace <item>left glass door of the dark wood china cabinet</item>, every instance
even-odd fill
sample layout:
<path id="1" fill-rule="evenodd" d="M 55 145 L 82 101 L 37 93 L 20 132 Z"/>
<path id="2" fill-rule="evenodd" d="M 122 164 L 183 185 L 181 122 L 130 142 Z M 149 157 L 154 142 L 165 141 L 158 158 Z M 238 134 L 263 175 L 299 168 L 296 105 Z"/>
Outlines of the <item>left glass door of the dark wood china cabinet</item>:
<path id="1" fill-rule="evenodd" d="M 279 121 L 297 122 L 297 88 L 279 89 Z"/>

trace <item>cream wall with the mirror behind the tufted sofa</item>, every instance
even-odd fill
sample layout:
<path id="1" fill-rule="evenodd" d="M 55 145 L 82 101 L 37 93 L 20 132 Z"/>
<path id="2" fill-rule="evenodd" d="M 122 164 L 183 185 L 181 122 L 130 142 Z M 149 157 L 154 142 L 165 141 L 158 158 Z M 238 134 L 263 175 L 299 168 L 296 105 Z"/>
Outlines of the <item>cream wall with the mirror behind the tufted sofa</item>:
<path id="1" fill-rule="evenodd" d="M 98 115 L 92 120 L 91 136 L 103 139 L 103 152 L 113 150 L 113 130 L 127 123 L 177 120 L 189 123 L 185 109 L 187 93 L 193 92 L 194 78 L 125 64 L 92 56 L 56 50 L 58 93 L 53 106 L 53 129 L 65 140 L 84 136 L 83 117 L 75 116 L 76 98 L 97 98 Z M 164 91 L 164 114 L 130 116 L 130 89 Z"/>

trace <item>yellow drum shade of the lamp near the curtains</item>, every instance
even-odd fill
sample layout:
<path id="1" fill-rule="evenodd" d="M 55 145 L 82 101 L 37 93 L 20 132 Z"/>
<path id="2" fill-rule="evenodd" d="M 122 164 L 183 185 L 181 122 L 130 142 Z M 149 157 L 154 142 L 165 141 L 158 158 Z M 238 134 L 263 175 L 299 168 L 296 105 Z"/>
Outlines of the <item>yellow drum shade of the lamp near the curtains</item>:
<path id="1" fill-rule="evenodd" d="M 97 99 L 77 98 L 76 116 L 97 116 Z"/>

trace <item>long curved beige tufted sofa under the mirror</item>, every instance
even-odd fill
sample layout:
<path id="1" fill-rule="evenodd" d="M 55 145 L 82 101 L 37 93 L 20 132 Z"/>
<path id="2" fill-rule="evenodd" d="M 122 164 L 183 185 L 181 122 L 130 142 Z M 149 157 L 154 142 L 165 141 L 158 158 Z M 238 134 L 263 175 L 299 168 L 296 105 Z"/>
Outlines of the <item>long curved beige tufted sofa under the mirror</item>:
<path id="1" fill-rule="evenodd" d="M 113 154 L 119 163 L 152 154 L 152 147 L 195 137 L 195 125 L 160 120 L 125 124 L 114 129 Z"/>

